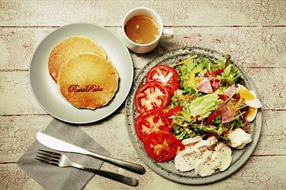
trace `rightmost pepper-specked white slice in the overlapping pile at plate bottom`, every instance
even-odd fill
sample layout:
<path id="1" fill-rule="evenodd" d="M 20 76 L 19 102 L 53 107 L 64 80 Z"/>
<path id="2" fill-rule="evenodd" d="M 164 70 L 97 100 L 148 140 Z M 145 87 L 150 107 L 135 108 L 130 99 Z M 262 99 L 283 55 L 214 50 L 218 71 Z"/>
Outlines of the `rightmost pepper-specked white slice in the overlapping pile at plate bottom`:
<path id="1" fill-rule="evenodd" d="M 224 171 L 232 163 L 232 150 L 226 144 L 219 142 L 214 147 L 214 152 L 211 156 L 210 166 L 213 169 Z"/>

